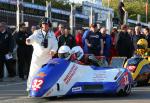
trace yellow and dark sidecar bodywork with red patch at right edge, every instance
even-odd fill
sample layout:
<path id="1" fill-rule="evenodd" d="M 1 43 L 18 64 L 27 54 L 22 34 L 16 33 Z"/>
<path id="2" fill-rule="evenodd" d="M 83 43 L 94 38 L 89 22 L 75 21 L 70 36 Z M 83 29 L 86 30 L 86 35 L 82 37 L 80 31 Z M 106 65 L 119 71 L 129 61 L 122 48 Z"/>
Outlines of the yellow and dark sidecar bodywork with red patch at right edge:
<path id="1" fill-rule="evenodd" d="M 150 61 L 141 56 L 134 56 L 127 60 L 124 65 L 138 84 L 147 84 L 150 80 Z"/>

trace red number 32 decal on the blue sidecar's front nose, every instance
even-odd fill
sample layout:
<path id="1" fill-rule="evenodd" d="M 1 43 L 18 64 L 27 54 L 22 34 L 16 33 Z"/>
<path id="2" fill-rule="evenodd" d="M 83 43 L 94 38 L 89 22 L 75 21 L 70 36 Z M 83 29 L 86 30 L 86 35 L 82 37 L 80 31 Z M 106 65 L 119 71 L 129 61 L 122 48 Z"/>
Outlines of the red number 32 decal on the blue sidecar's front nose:
<path id="1" fill-rule="evenodd" d="M 34 79 L 32 82 L 32 90 L 38 91 L 39 89 L 41 89 L 43 83 L 44 80 L 41 78 Z"/>

